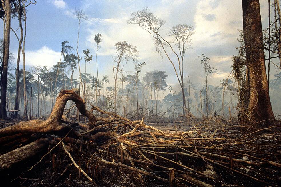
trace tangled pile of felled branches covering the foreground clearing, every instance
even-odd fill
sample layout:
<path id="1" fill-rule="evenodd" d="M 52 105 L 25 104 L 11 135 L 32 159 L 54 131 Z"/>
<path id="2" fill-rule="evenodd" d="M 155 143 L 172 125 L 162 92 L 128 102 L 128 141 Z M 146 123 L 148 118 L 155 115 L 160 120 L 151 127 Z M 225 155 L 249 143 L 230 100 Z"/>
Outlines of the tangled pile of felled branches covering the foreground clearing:
<path id="1" fill-rule="evenodd" d="M 63 91 L 57 102 L 65 94 L 81 99 L 71 91 Z M 51 138 L 37 136 L 41 138 L 36 140 L 36 144 L 31 143 L 33 148 L 26 147 L 30 144 L 23 146 L 24 149 L 32 149 L 34 153 L 34 145 L 42 145 L 42 142 L 55 145 L 51 146 L 47 154 L 60 147 L 65 158 L 67 156 L 69 159 L 67 167 L 59 177 L 62 177 L 69 167 L 75 166 L 79 176 L 83 174 L 85 180 L 89 180 L 93 186 L 112 186 L 101 178 L 101 175 L 104 176 L 102 172 L 106 173 L 108 168 L 118 176 L 121 176 L 122 172 L 133 174 L 137 179 L 135 186 L 280 185 L 279 125 L 256 129 L 254 126 L 237 126 L 222 123 L 216 118 L 207 118 L 194 124 L 188 131 L 168 133 L 148 125 L 145 119 L 132 121 L 100 110 L 96 106 L 92 106 L 91 111 L 86 111 L 84 106 L 79 105 L 77 98 L 71 100 L 76 103 L 79 111 L 89 118 L 87 125 L 57 124 L 53 126 L 55 131 L 44 131 L 55 134 L 50 136 Z M 85 103 L 83 99 L 81 101 Z M 101 113 L 102 117 L 93 116 L 93 110 Z M 65 133 L 54 133 L 58 132 L 57 129 Z M 41 132 L 43 133 L 42 129 Z M 21 134 L 26 137 L 28 133 Z M 9 136 L 18 137 L 19 134 L 10 133 Z M 13 151 L 19 154 L 19 151 L 23 151 L 19 149 L 23 147 Z M 11 152 L 0 156 L 0 171 L 5 169 L 4 165 L 9 158 L 7 156 L 15 154 Z M 39 162 L 29 170 L 34 170 Z M 24 173 L 21 176 L 24 176 Z M 56 182 L 58 181 L 54 180 L 51 186 Z"/>

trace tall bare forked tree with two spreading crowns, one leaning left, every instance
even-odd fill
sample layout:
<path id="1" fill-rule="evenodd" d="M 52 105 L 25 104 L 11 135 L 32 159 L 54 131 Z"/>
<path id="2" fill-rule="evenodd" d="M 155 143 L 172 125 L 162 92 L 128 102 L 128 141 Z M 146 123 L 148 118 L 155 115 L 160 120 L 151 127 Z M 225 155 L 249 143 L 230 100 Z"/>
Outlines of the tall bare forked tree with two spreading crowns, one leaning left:
<path id="1" fill-rule="evenodd" d="M 172 27 L 172 29 L 167 34 L 168 36 L 172 37 L 172 42 L 169 42 L 168 40 L 164 39 L 164 36 L 160 34 L 160 29 L 165 24 L 165 21 L 155 16 L 147 7 L 142 9 L 141 11 L 135 11 L 131 15 L 132 18 L 127 22 L 129 24 L 137 24 L 142 29 L 148 31 L 155 40 L 156 49 L 159 52 L 162 49 L 168 60 L 172 64 L 180 87 L 182 89 L 183 115 L 187 115 L 186 99 L 184 95 L 183 60 L 186 50 L 190 48 L 192 44 L 191 36 L 194 34 L 193 27 L 186 24 L 179 24 Z M 178 49 L 178 53 L 176 52 L 174 47 Z M 177 59 L 176 61 L 172 59 L 172 56 L 169 54 L 168 50 L 170 50 L 170 52 L 175 55 L 175 58 Z M 175 67 L 175 63 L 178 63 L 179 65 L 178 70 Z"/>

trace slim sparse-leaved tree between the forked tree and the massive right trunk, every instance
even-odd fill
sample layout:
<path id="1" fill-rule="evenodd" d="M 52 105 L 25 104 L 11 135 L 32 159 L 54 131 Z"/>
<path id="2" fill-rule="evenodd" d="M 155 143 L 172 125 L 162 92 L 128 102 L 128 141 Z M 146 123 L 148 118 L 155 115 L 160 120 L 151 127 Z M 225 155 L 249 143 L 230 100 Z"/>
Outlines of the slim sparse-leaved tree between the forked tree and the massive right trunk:
<path id="1" fill-rule="evenodd" d="M 200 61 L 200 64 L 204 67 L 204 74 L 205 74 L 205 89 L 206 89 L 206 116 L 208 117 L 208 75 L 209 73 L 212 75 L 216 73 L 216 69 L 214 67 L 211 67 L 209 64 L 210 59 L 206 57 L 204 54 L 201 55 L 202 60 Z"/>

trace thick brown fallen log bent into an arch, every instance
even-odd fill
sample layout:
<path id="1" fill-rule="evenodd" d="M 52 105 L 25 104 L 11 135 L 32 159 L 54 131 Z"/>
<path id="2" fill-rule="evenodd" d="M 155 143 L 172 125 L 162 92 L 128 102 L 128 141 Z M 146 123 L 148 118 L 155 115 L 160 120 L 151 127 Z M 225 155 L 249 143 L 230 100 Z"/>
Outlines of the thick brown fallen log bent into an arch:
<path id="1" fill-rule="evenodd" d="M 79 112 L 89 118 L 88 125 L 90 126 L 90 129 L 93 128 L 97 120 L 96 117 L 85 108 L 85 101 L 77 93 L 75 93 L 75 91 L 63 90 L 59 93 L 59 96 L 57 96 L 53 111 L 46 121 L 23 121 L 14 126 L 0 129 L 0 144 L 1 138 L 7 139 L 7 136 L 14 136 L 15 134 L 50 133 L 64 129 L 65 125 L 62 124 L 61 118 L 65 104 L 69 100 L 73 100 Z"/>

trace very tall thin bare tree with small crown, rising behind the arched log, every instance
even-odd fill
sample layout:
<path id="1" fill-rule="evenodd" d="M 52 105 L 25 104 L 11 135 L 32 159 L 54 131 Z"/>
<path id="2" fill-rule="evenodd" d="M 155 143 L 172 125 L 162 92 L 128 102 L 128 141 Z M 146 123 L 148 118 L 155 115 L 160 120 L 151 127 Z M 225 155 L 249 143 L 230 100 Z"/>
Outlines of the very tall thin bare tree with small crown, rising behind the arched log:
<path id="1" fill-rule="evenodd" d="M 80 9 L 76 9 L 75 10 L 75 16 L 78 19 L 78 34 L 77 34 L 77 48 L 76 48 L 76 53 L 77 53 L 77 57 L 78 57 L 78 69 L 79 69 L 79 77 L 80 77 L 80 82 L 82 85 L 82 91 L 83 91 L 83 98 L 84 100 L 86 100 L 86 94 L 85 91 L 83 89 L 83 84 L 82 84 L 82 77 L 81 77 L 81 70 L 80 70 L 80 57 L 79 57 L 79 53 L 78 53 L 78 47 L 79 47 L 79 32 L 80 32 L 80 25 L 82 22 L 87 21 L 88 17 L 85 15 L 85 12 L 83 10 Z"/>

